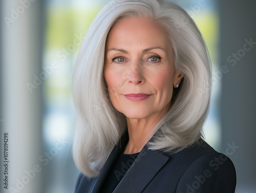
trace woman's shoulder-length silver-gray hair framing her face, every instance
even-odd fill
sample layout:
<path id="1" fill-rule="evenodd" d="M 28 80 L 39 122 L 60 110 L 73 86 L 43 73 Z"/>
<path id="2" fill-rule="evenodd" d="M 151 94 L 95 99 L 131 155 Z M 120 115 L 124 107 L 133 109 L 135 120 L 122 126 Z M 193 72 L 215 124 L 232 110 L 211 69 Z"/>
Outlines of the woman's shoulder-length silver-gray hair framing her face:
<path id="1" fill-rule="evenodd" d="M 180 151 L 202 137 L 209 109 L 211 65 L 205 42 L 194 20 L 178 5 L 164 0 L 115 0 L 93 20 L 80 47 L 72 92 L 77 113 L 73 157 L 78 169 L 96 177 L 126 129 L 114 109 L 103 76 L 105 42 L 123 17 L 147 17 L 161 24 L 173 46 L 175 68 L 183 74 L 174 89 L 172 106 L 154 127 L 148 148 Z"/>

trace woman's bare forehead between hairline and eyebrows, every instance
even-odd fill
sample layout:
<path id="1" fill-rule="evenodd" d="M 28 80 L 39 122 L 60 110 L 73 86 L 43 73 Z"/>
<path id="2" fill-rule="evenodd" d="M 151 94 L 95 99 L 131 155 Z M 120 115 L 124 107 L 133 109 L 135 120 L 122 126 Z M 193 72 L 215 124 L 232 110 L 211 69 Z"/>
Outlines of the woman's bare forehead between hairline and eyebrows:
<path id="1" fill-rule="evenodd" d="M 165 30 L 145 17 L 125 17 L 113 26 L 106 40 L 106 49 L 144 44 L 144 48 L 166 47 L 168 36 Z"/>

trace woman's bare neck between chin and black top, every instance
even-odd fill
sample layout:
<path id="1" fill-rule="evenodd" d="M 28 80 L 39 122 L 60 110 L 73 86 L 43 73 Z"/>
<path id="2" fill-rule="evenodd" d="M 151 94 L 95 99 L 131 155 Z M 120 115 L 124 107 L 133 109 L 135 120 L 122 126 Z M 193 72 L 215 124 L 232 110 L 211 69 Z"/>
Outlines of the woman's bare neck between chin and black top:
<path id="1" fill-rule="evenodd" d="M 129 141 L 124 149 L 124 154 L 141 152 L 145 144 L 155 133 L 152 133 L 156 124 L 164 117 L 167 111 L 153 114 L 144 119 L 130 119 L 126 117 Z"/>

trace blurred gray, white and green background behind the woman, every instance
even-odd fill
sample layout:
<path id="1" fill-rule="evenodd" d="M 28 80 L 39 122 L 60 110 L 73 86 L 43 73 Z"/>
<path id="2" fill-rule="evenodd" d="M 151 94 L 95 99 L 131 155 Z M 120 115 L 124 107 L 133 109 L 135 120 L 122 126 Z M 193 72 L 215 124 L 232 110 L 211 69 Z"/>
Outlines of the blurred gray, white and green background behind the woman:
<path id="1" fill-rule="evenodd" d="M 109 2 L 1 1 L 1 192 L 74 191 L 72 69 L 89 25 Z M 256 192 L 256 2 L 173 2 L 195 20 L 212 61 L 206 141 L 233 161 L 236 192 Z M 8 190 L 2 183 L 6 133 Z"/>

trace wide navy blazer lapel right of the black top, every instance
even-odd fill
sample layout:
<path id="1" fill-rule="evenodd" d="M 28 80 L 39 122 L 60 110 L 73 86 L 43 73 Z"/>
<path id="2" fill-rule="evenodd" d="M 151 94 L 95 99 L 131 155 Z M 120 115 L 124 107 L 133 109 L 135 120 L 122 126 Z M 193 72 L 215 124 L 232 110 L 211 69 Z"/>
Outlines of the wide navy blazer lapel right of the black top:
<path id="1" fill-rule="evenodd" d="M 140 193 L 169 159 L 145 145 L 113 193 Z"/>

